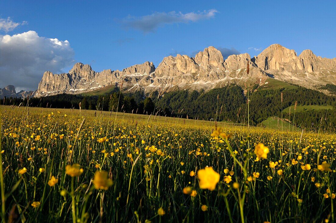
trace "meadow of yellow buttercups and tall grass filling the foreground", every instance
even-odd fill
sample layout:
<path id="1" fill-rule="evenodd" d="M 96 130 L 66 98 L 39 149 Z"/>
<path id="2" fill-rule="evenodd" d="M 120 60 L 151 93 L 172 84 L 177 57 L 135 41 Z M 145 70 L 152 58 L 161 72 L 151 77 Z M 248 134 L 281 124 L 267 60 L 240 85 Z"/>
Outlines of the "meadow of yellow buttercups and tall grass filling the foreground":
<path id="1" fill-rule="evenodd" d="M 333 222 L 336 135 L 0 106 L 2 222 Z"/>

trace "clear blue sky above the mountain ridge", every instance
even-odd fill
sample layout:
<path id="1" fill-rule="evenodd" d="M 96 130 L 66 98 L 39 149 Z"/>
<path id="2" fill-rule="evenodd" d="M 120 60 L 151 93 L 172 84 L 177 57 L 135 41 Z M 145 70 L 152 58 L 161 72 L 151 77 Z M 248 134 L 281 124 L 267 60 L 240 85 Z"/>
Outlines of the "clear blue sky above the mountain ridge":
<path id="1" fill-rule="evenodd" d="M 74 62 L 88 63 L 96 71 L 144 61 L 158 66 L 165 56 L 194 56 L 208 46 L 253 57 L 279 43 L 297 54 L 311 49 L 334 58 L 335 9 L 336 1 L 2 0 L 0 18 L 19 24 L 0 29 L 0 37 L 35 31 L 38 37 L 68 40 L 72 51 L 62 52 L 73 55 L 51 66 L 53 72 L 68 71 Z M 40 79 L 42 74 L 34 75 Z M 0 88 L 3 84 L 0 80 Z"/>

